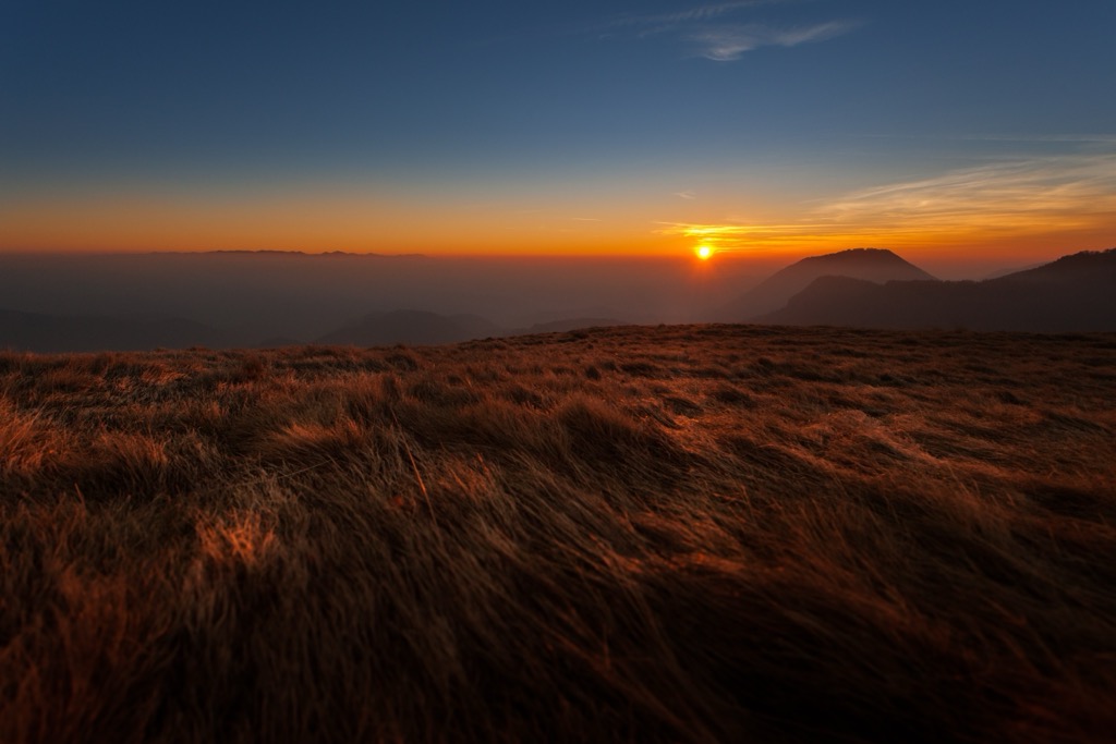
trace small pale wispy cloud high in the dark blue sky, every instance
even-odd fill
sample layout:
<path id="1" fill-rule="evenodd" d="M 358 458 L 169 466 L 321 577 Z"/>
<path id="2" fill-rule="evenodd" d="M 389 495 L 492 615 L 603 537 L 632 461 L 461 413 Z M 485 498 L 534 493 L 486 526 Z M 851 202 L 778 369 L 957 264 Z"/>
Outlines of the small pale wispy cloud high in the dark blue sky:
<path id="1" fill-rule="evenodd" d="M 694 54 L 715 61 L 740 59 L 761 47 L 797 47 L 825 41 L 856 29 L 859 22 L 829 20 L 806 26 L 743 23 L 733 19 L 760 6 L 789 4 L 793 0 L 742 0 L 698 6 L 673 13 L 628 15 L 598 27 L 605 36 L 627 31 L 638 38 L 668 36 L 695 47 Z"/>

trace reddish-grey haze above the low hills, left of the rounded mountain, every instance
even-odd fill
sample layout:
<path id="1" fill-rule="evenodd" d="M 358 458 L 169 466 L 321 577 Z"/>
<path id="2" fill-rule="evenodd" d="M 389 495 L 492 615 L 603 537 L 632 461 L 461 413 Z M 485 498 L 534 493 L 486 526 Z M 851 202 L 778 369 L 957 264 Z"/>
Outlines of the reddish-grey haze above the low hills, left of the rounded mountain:
<path id="1" fill-rule="evenodd" d="M 689 254 L 0 253 L 0 307 L 189 318 L 228 331 L 233 345 L 253 346 L 310 341 L 371 311 L 400 308 L 475 313 L 509 329 L 568 318 L 691 322 L 752 287 L 758 273 L 767 267 L 728 257 L 715 271 L 695 271 Z M 478 336 L 497 332 L 461 323 Z"/>

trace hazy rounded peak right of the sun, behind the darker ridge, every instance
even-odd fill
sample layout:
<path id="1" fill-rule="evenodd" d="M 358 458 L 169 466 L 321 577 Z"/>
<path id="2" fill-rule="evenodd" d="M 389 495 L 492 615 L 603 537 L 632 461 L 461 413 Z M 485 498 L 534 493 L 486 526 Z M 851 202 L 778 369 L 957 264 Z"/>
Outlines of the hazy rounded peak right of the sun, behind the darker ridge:
<path id="1" fill-rule="evenodd" d="M 820 277 L 850 277 L 869 282 L 932 280 L 934 277 L 895 253 L 879 248 L 854 248 L 812 255 L 763 280 L 716 312 L 716 320 L 741 322 L 787 305 Z"/>

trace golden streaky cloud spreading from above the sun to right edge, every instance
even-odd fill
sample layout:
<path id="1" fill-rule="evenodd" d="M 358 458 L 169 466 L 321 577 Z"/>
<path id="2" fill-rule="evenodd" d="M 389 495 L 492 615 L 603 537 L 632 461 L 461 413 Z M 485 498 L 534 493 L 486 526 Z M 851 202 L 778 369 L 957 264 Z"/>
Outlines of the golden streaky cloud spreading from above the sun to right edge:
<path id="1" fill-rule="evenodd" d="M 839 239 L 897 247 L 1116 229 L 1116 153 L 1028 158 L 845 194 L 785 223 L 663 223 L 718 250 Z"/>

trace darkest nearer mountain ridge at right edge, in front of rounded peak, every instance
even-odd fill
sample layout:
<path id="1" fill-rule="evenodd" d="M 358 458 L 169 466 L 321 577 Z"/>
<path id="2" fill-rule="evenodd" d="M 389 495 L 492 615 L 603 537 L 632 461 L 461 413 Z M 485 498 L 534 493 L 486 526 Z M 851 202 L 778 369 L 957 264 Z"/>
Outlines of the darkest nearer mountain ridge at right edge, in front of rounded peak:
<path id="1" fill-rule="evenodd" d="M 985 281 L 822 277 L 757 322 L 1017 331 L 1116 330 L 1116 249 Z"/>

